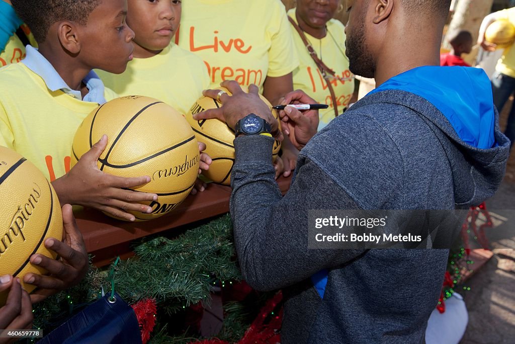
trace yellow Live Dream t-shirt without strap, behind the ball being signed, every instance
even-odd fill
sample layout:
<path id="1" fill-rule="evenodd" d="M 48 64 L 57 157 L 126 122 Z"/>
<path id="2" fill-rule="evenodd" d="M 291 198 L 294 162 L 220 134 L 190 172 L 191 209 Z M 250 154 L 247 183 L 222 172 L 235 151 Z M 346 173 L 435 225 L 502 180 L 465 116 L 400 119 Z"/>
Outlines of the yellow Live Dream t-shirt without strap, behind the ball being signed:
<path id="1" fill-rule="evenodd" d="M 211 84 L 236 80 L 262 88 L 298 65 L 280 0 L 187 0 L 176 41 L 208 66 Z"/>

